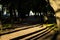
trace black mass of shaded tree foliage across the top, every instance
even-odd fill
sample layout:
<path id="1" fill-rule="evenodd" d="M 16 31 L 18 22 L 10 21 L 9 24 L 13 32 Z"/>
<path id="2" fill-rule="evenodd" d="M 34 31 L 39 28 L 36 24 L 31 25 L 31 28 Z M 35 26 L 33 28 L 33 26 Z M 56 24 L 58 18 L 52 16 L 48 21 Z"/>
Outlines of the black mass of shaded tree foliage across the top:
<path id="1" fill-rule="evenodd" d="M 3 4 L 3 7 L 7 6 L 11 14 L 10 15 L 11 19 L 13 19 L 12 12 L 14 12 L 15 19 L 16 19 L 15 9 L 18 10 L 18 19 L 26 18 L 25 15 L 26 14 L 29 15 L 30 10 L 32 10 L 35 13 L 43 12 L 44 15 L 48 14 L 47 12 L 50 12 L 50 14 L 53 14 L 53 15 L 55 14 L 53 8 L 49 4 L 49 1 L 46 1 L 46 0 L 1 0 L 1 4 Z"/>

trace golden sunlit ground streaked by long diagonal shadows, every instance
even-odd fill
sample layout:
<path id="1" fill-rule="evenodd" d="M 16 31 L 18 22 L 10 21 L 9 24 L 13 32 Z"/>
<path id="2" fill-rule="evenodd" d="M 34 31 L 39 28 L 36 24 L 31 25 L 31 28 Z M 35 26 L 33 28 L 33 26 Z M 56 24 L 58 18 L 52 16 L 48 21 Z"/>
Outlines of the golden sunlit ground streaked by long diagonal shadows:
<path id="1" fill-rule="evenodd" d="M 52 26 L 52 25 L 56 25 L 56 24 L 43 24 L 43 27 L 40 27 L 40 24 L 30 25 L 31 28 L 29 28 L 29 29 L 25 29 L 25 30 L 13 32 L 13 33 L 10 33 L 10 34 L 2 35 L 1 38 L 2 38 L 2 40 L 4 40 L 6 37 L 7 37 L 7 39 L 14 39 L 14 38 L 16 38 L 16 37 L 18 37 L 18 39 L 19 39 L 19 35 L 20 35 L 20 36 L 23 36 L 23 35 L 30 34 L 30 33 L 33 33 L 33 32 L 35 32 L 35 31 L 39 31 L 39 30 L 42 30 L 42 29 L 48 27 L 47 29 L 44 29 L 44 30 L 42 30 L 41 32 L 37 32 L 37 33 L 34 33 L 34 34 L 30 34 L 30 36 L 28 36 L 28 37 L 26 37 L 26 38 L 33 37 L 33 36 L 36 36 L 36 35 L 38 35 L 38 34 L 40 35 L 40 33 L 42 33 L 41 35 L 44 35 L 44 34 L 45 34 L 44 31 L 48 30 L 48 29 L 50 28 L 49 26 Z M 35 27 L 35 26 L 36 26 L 36 27 Z M 25 27 L 28 28 L 29 26 L 25 26 Z M 19 28 L 19 29 L 17 29 L 17 30 L 20 30 L 20 29 L 21 29 L 21 28 Z M 24 28 L 22 27 L 22 29 L 24 29 Z M 55 29 L 55 27 L 52 26 L 51 29 L 49 29 L 49 31 L 52 30 L 52 29 Z M 28 30 L 28 31 L 27 31 L 27 30 Z M 49 31 L 46 31 L 46 33 L 49 32 Z M 56 31 L 56 30 L 51 31 L 51 34 L 53 35 L 53 34 L 55 33 L 55 31 Z M 44 33 L 43 33 L 43 32 L 44 32 Z M 50 34 L 50 33 L 49 33 L 49 34 Z M 13 35 L 13 36 L 11 36 L 11 35 Z M 41 36 L 41 35 L 40 35 L 40 36 Z M 9 37 L 8 37 L 8 36 L 9 36 Z M 48 35 L 46 35 L 46 36 L 48 36 Z M 38 36 L 37 36 L 37 37 L 38 37 Z M 4 38 L 4 39 L 3 39 L 3 38 Z M 23 38 L 23 39 L 26 39 L 26 38 Z M 45 36 L 42 37 L 42 38 L 45 38 Z M 42 39 L 42 38 L 41 38 L 41 39 Z M 7 40 L 7 39 L 6 39 L 6 40 Z M 33 38 L 33 39 L 35 39 L 35 38 Z M 39 38 L 39 39 L 40 39 L 40 38 Z M 49 39 L 50 39 L 50 38 L 49 38 Z"/>

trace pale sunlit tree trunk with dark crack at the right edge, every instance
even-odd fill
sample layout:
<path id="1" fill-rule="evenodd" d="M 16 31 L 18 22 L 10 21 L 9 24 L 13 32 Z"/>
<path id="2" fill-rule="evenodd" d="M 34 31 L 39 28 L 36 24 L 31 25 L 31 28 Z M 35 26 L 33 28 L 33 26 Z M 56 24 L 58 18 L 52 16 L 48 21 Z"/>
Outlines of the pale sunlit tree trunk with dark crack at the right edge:
<path id="1" fill-rule="evenodd" d="M 54 11 L 55 11 L 55 17 L 56 17 L 56 22 L 57 22 L 57 27 L 58 30 L 60 31 L 60 1 L 58 0 L 49 0 L 50 1 L 50 5 L 53 7 Z"/>

